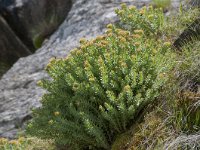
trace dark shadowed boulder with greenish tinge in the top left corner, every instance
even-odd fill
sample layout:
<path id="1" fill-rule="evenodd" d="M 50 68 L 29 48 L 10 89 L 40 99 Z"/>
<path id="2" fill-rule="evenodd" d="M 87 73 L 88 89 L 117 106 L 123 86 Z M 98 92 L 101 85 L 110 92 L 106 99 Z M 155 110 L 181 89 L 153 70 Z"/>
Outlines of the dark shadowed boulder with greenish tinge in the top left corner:
<path id="1" fill-rule="evenodd" d="M 0 13 L 34 51 L 67 16 L 72 0 L 0 0 Z"/>

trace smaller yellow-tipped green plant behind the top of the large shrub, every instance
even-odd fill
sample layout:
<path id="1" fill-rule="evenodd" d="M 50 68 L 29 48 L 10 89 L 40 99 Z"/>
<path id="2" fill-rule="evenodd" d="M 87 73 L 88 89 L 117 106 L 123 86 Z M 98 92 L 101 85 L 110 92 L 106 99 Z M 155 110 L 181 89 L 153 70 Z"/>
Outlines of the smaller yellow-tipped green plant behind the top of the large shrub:
<path id="1" fill-rule="evenodd" d="M 126 28 L 134 31 L 143 29 L 145 35 L 157 35 L 162 30 L 164 23 L 164 14 L 161 8 L 153 9 L 143 7 L 140 10 L 135 6 L 127 7 L 122 4 L 121 9 L 115 10 L 120 21 L 126 25 Z"/>

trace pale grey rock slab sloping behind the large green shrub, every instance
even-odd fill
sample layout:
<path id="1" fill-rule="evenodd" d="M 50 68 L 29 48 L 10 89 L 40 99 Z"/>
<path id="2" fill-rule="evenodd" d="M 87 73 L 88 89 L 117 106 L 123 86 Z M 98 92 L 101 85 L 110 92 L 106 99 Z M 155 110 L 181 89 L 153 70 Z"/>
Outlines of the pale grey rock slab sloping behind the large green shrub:
<path id="1" fill-rule="evenodd" d="M 44 91 L 36 86 L 47 78 L 44 71 L 51 57 L 65 57 L 82 37 L 102 34 L 106 24 L 116 22 L 114 9 L 121 2 L 138 7 L 150 0 L 73 0 L 71 11 L 59 29 L 34 54 L 20 58 L 0 80 L 0 137 L 14 137 L 40 106 Z M 177 6 L 175 1 L 174 6 Z"/>

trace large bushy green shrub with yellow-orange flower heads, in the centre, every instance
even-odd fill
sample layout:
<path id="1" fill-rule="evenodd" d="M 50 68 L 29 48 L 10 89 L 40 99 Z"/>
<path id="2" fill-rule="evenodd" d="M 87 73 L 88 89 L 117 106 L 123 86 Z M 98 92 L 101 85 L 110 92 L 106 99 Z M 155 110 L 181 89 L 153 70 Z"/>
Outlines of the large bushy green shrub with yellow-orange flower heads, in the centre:
<path id="1" fill-rule="evenodd" d="M 136 29 L 110 24 L 105 35 L 81 39 L 68 57 L 52 59 L 46 67 L 51 79 L 39 82 L 48 92 L 28 133 L 73 150 L 111 149 L 116 136 L 159 95 L 171 67 L 165 65 L 169 43 L 144 38 L 149 27 Z"/>

